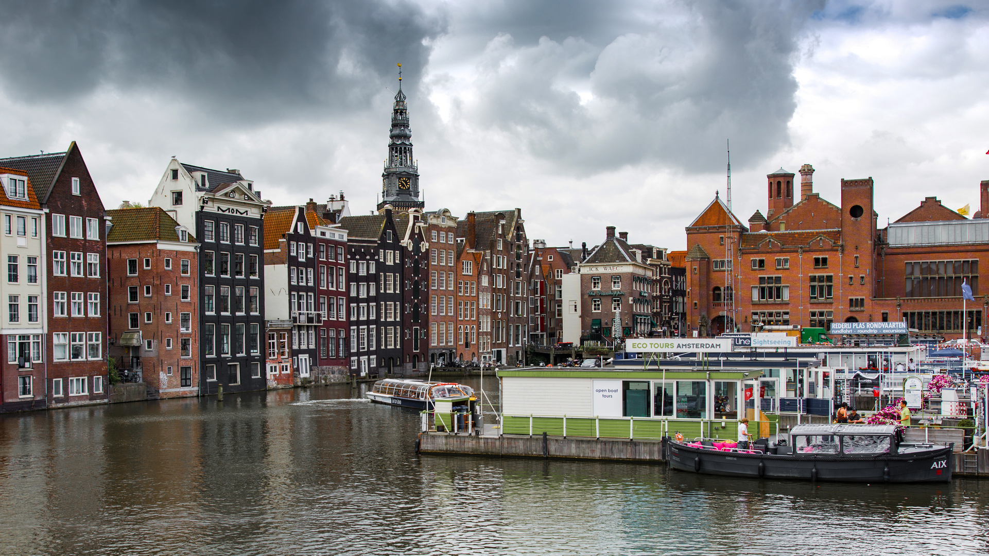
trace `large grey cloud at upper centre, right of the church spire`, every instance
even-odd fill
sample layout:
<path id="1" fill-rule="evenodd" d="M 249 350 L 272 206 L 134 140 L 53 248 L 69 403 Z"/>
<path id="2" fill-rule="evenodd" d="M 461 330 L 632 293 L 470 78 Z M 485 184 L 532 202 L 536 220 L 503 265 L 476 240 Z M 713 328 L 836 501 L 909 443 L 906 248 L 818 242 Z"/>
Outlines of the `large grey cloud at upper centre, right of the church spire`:
<path id="1" fill-rule="evenodd" d="M 560 8 L 537 6 L 552 8 L 544 16 Z M 475 116 L 576 171 L 641 162 L 709 171 L 724 164 L 725 139 L 742 164 L 788 142 L 797 39 L 821 4 L 623 6 L 588 4 L 555 30 L 535 14 L 489 29 Z M 584 102 L 582 79 L 593 95 Z"/>

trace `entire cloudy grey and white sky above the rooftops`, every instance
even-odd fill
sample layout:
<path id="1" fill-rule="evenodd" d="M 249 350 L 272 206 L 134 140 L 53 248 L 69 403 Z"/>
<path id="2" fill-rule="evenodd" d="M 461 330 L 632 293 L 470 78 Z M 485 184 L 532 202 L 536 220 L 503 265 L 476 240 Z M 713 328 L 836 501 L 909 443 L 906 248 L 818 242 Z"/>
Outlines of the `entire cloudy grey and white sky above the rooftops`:
<path id="1" fill-rule="evenodd" d="M 426 208 L 522 209 L 530 238 L 605 226 L 684 248 L 764 175 L 875 179 L 880 223 L 989 179 L 977 2 L 26 0 L 0 19 L 0 156 L 76 140 L 107 208 L 169 158 L 238 168 L 275 204 L 381 192 L 403 62 Z"/>

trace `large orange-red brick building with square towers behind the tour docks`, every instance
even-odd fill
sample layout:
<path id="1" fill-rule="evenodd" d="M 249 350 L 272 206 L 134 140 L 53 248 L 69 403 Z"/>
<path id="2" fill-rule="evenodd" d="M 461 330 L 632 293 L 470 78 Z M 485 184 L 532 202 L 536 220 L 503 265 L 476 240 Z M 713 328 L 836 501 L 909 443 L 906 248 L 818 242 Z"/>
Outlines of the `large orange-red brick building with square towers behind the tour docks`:
<path id="1" fill-rule="evenodd" d="M 766 216 L 757 211 L 748 227 L 715 195 L 686 228 L 687 335 L 906 319 L 922 331 L 960 336 L 961 281 L 979 296 L 977 259 L 989 249 L 989 223 L 928 198 L 879 230 L 872 178 L 843 179 L 837 206 L 813 192 L 813 172 L 800 168 L 796 202 L 795 174 L 768 174 Z M 971 329 L 981 325 L 985 305 L 984 296 L 969 302 Z"/>

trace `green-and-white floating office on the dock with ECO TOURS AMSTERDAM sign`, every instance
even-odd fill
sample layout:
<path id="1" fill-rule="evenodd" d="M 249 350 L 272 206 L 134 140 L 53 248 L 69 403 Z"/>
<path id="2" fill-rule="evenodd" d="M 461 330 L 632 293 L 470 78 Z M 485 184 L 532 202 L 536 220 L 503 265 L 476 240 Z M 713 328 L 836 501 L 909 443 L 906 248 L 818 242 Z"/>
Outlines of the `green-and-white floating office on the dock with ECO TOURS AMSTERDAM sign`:
<path id="1" fill-rule="evenodd" d="M 730 339 L 628 340 L 626 350 L 638 350 L 644 358 L 622 367 L 499 370 L 501 431 L 597 438 L 661 438 L 679 432 L 736 439 L 739 419 L 748 417 L 750 434 L 769 436 L 777 432 L 780 409 L 790 407 L 780 397 L 782 377 L 768 376 L 769 368 L 799 369 L 805 397 L 830 394 L 817 357 L 733 358 L 731 344 Z M 659 359 L 657 353 L 679 359 Z M 830 396 L 822 399 L 830 412 Z M 803 408 L 799 399 L 792 403 L 794 412 Z"/>

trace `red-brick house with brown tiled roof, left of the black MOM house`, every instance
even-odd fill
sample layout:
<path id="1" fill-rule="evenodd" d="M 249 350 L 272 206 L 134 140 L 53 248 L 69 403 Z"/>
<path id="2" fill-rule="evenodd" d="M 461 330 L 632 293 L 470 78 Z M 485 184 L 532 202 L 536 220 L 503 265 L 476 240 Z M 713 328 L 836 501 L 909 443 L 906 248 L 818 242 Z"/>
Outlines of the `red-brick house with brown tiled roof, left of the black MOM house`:
<path id="1" fill-rule="evenodd" d="M 160 207 L 107 211 L 110 353 L 150 398 L 199 395 L 199 243 Z"/>

